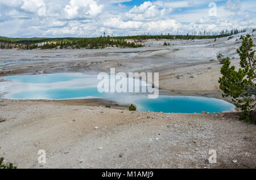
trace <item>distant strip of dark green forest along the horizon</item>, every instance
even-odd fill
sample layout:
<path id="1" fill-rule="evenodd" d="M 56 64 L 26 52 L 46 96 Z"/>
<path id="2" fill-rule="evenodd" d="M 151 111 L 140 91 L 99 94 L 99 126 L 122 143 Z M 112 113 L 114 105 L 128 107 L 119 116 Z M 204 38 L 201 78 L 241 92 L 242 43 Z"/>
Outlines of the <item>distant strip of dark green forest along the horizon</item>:
<path id="1" fill-rule="evenodd" d="M 138 48 L 142 47 L 142 42 L 147 39 L 168 39 L 168 40 L 195 40 L 206 38 L 220 38 L 236 35 L 245 32 L 246 29 L 232 29 L 231 31 L 217 32 L 193 32 L 187 35 L 138 35 L 138 36 L 118 36 L 110 37 L 104 35 L 100 37 L 61 37 L 61 38 L 9 38 L 0 36 L 1 49 L 98 49 L 106 47 L 117 48 Z M 256 31 L 256 28 L 253 29 Z"/>

